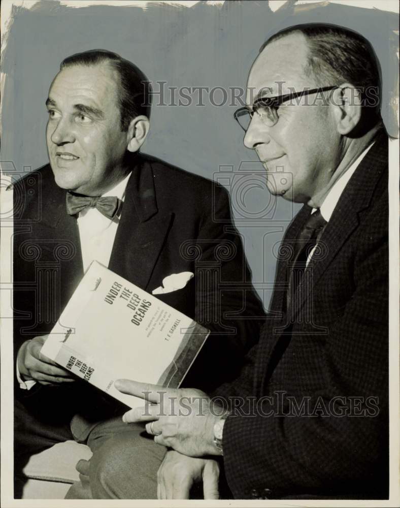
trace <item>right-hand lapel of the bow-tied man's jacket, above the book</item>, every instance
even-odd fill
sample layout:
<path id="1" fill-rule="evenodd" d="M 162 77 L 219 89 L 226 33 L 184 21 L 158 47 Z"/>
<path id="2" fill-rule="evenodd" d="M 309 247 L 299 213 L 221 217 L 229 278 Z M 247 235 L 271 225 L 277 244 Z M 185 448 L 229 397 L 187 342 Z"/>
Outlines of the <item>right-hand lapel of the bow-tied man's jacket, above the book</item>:
<path id="1" fill-rule="evenodd" d="M 146 289 L 171 221 L 172 213 L 158 211 L 151 164 L 138 156 L 126 186 L 110 270 Z"/>

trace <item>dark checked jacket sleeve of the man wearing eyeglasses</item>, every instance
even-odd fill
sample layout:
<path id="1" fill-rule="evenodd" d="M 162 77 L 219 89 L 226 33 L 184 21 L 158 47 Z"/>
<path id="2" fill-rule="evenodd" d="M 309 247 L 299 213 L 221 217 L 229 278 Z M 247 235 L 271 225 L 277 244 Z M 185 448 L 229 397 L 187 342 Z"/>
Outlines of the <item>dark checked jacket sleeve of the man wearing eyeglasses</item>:
<path id="1" fill-rule="evenodd" d="M 381 214 L 384 215 L 384 214 Z M 235 497 L 380 498 L 388 468 L 387 216 L 364 228 L 352 298 L 329 328 L 324 388 L 306 399 L 273 397 L 252 416 L 236 411 L 223 432 L 224 467 Z M 261 334 L 260 342 L 268 340 Z M 232 387 L 234 388 L 234 387 Z M 304 405 L 303 405 L 304 404 Z"/>

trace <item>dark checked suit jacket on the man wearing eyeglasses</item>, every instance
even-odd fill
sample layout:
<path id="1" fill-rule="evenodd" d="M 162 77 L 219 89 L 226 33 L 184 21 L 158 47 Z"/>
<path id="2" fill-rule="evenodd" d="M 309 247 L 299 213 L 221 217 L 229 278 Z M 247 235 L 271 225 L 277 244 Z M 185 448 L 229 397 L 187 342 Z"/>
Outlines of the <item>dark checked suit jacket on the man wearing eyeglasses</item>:
<path id="1" fill-rule="evenodd" d="M 351 177 L 283 312 L 288 251 L 310 207 L 289 225 L 260 341 L 216 392 L 238 397 L 223 432 L 237 498 L 388 495 L 387 143 L 379 136 Z"/>

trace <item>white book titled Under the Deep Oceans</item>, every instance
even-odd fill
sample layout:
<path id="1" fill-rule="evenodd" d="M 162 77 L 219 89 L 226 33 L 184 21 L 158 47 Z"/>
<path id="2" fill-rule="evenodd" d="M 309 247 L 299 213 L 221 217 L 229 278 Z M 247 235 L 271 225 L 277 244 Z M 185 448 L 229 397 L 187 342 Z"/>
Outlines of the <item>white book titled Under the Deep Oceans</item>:
<path id="1" fill-rule="evenodd" d="M 96 261 L 41 352 L 129 407 L 143 399 L 114 387 L 134 379 L 178 388 L 209 330 Z"/>

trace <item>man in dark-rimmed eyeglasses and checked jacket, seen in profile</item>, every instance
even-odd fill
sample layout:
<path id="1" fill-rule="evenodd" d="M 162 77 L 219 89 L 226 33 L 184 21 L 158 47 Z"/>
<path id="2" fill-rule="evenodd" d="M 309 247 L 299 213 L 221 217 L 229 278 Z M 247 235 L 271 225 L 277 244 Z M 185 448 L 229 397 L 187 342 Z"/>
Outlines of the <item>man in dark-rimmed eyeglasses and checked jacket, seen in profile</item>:
<path id="1" fill-rule="evenodd" d="M 368 41 L 332 25 L 285 29 L 253 63 L 247 105 L 235 113 L 244 143 L 270 192 L 304 206 L 281 245 L 259 343 L 234 382 L 214 398 L 118 382 L 152 402 L 124 421 L 147 421 L 155 442 L 172 449 L 158 497 L 187 498 L 203 481 L 210 498 L 387 498 L 388 140 L 379 75 Z M 228 491 L 218 486 L 220 466 Z"/>

